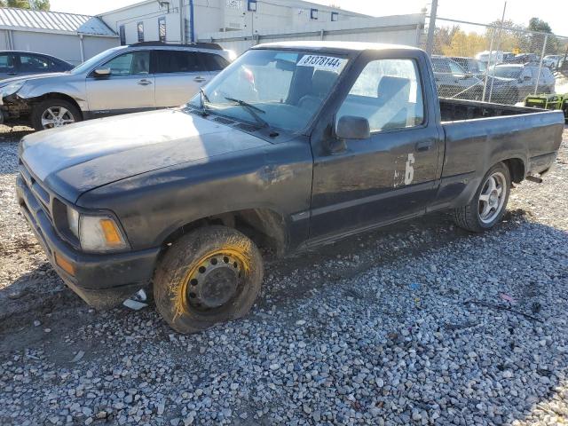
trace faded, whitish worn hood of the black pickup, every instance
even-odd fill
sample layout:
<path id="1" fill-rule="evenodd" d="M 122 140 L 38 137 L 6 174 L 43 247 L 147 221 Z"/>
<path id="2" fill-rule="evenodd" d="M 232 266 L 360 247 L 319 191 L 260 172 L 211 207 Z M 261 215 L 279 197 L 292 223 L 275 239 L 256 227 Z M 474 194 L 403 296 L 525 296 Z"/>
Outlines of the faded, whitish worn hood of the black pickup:
<path id="1" fill-rule="evenodd" d="M 21 160 L 67 201 L 117 180 L 269 142 L 180 109 L 80 122 L 22 140 Z"/>

